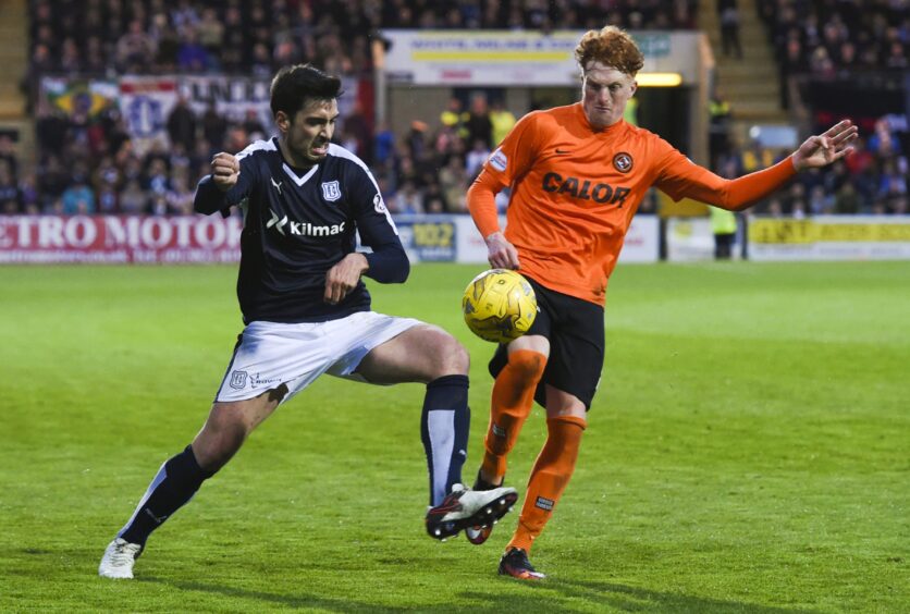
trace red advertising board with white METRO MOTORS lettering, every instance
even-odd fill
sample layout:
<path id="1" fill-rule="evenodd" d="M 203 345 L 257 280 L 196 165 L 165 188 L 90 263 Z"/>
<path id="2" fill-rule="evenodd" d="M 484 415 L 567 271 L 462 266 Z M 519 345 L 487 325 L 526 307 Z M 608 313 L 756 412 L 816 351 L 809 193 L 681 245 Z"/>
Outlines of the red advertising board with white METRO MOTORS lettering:
<path id="1" fill-rule="evenodd" d="M 220 216 L 0 216 L 0 263 L 236 262 L 241 231 Z"/>

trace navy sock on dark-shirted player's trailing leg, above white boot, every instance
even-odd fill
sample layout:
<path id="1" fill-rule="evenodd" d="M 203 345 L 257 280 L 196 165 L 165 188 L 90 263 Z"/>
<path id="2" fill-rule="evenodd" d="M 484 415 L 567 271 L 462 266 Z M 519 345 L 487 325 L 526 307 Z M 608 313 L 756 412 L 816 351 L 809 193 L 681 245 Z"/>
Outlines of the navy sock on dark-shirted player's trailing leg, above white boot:
<path id="1" fill-rule="evenodd" d="M 116 537 L 145 545 L 151 531 L 193 499 L 202 482 L 213 475 L 199 467 L 193 447 L 187 445 L 183 452 L 161 465 L 133 517 Z"/>

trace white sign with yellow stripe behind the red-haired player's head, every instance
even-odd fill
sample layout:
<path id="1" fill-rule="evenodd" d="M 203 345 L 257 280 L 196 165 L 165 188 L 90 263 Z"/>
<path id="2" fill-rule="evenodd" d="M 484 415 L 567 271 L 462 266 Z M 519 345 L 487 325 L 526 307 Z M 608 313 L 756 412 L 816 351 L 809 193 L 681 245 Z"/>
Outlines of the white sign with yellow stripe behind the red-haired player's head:
<path id="1" fill-rule="evenodd" d="M 575 48 L 583 33 L 556 30 L 388 30 L 389 79 L 414 85 L 567 86 L 578 83 Z M 698 77 L 698 35 L 635 32 L 644 73 Z"/>

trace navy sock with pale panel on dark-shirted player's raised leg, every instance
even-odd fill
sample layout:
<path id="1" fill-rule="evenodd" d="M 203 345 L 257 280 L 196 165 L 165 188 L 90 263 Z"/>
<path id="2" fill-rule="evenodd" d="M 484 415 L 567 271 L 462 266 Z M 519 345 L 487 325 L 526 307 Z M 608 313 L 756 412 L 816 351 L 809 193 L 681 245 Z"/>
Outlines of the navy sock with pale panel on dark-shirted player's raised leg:
<path id="1" fill-rule="evenodd" d="M 420 439 L 430 471 L 430 505 L 442 503 L 452 484 L 462 481 L 468 456 L 467 376 L 443 376 L 427 384 L 420 417 Z"/>

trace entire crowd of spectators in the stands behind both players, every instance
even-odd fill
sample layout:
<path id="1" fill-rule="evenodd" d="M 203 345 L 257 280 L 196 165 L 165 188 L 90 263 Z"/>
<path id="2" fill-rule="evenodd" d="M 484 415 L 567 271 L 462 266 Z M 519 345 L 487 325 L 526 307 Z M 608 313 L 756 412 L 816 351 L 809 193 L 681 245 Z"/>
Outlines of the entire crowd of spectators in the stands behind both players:
<path id="1" fill-rule="evenodd" d="M 906 63 L 908 20 L 900 8 L 906 3 L 880 0 L 872 10 L 850 13 L 857 4 L 759 3 L 775 40 L 786 47 L 794 40 L 800 49 L 850 41 L 861 57 L 871 58 L 873 49 L 877 60 L 886 60 L 897 41 Z M 67 73 L 268 77 L 280 65 L 300 61 L 362 77 L 371 72 L 370 41 L 383 28 L 578 29 L 604 23 L 690 28 L 696 7 L 693 0 L 34 0 L 28 82 L 34 86 L 40 75 Z M 791 25 L 795 19 L 799 26 Z M 335 139 L 370 165 L 393 212 L 464 212 L 466 187 L 515 123 L 500 94 L 453 97 L 434 122 L 439 128 L 415 120 L 404 133 L 371 125 L 355 105 L 341 118 Z M 36 126 L 35 168 L 17 161 L 12 140 L 0 135 L 0 212 L 188 213 L 212 152 L 238 151 L 271 132 L 253 116 L 231 121 L 213 105 L 196 113 L 185 103 L 168 118 L 170 144 L 142 151 L 116 108 L 93 118 L 51 110 L 36 118 Z M 801 175 L 758 211 L 906 212 L 906 143 L 899 138 L 906 130 L 894 118 L 881 120 L 857 154 L 833 169 Z M 715 170 L 737 176 L 779 155 L 751 146 L 727 149 Z M 504 206 L 507 194 L 501 198 Z"/>

